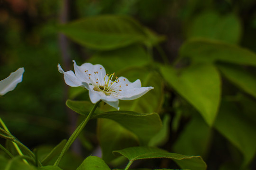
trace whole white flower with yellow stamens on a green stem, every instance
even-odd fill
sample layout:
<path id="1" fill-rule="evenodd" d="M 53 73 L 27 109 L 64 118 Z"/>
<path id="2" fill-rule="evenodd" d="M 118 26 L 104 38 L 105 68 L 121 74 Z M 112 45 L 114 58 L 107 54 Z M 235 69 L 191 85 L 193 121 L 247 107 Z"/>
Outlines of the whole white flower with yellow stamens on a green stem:
<path id="1" fill-rule="evenodd" d="M 141 87 L 139 79 L 131 83 L 125 77 L 115 76 L 115 73 L 106 74 L 105 68 L 100 64 L 84 63 L 77 66 L 74 60 L 73 62 L 75 74 L 73 71 L 64 72 L 58 64 L 59 72 L 64 74 L 67 85 L 88 89 L 92 103 L 102 100 L 119 110 L 119 99 L 134 100 L 154 89 L 154 87 Z"/>

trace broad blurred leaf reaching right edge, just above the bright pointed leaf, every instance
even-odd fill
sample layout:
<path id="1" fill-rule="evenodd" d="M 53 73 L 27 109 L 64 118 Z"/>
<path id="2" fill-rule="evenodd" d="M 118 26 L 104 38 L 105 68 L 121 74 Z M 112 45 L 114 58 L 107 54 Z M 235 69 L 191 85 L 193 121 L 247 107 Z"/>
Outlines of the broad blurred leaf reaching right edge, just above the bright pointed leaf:
<path id="1" fill-rule="evenodd" d="M 183 43 L 180 56 L 189 57 L 193 62 L 225 61 L 256 66 L 256 54 L 254 52 L 236 45 L 207 39 L 192 39 Z"/>

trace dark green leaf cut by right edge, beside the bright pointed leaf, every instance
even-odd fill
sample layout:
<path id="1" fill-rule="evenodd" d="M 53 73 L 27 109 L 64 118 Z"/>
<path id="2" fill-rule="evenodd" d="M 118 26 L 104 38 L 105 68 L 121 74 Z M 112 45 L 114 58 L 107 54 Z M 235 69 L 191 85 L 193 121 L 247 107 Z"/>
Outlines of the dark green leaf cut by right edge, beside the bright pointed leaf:
<path id="1" fill-rule="evenodd" d="M 220 71 L 232 83 L 240 87 L 245 92 L 256 97 L 256 77 L 247 72 L 245 69 L 230 65 L 218 65 Z"/>

